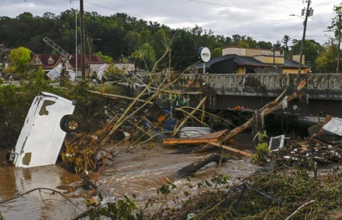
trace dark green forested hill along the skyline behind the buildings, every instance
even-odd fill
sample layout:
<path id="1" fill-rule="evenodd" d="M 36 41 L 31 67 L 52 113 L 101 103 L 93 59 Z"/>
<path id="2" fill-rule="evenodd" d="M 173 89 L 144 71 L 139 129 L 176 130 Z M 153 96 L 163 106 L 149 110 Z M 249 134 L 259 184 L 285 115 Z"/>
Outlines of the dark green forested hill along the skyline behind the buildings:
<path id="1" fill-rule="evenodd" d="M 0 17 L 0 43 L 11 48 L 24 46 L 33 53 L 51 53 L 51 47 L 42 41 L 43 37 L 48 36 L 69 53 L 74 53 L 75 13 L 75 10 L 66 10 L 60 15 L 46 12 L 43 16 L 33 16 L 25 12 L 16 18 Z M 163 42 L 170 42 L 172 36 L 175 36 L 171 46 L 172 66 L 175 69 L 184 69 L 196 62 L 197 48 L 200 46 L 209 47 L 213 57 L 220 56 L 221 47 L 228 45 L 268 49 L 273 47 L 270 42 L 256 42 L 251 37 L 214 35 L 212 31 L 204 30 L 199 26 L 176 30 L 123 13 L 111 16 L 102 16 L 96 12 L 85 13 L 85 37 L 89 37 L 89 44 L 86 44 L 87 53 L 91 47 L 91 53 L 101 51 L 102 54 L 112 57 L 114 61 L 124 56 L 135 61 L 138 66 L 143 66 L 142 62 L 140 64 L 137 62 L 137 54 L 134 52 L 149 51 L 148 57 L 146 53 L 143 54 L 145 60 L 149 59 L 147 63 L 150 66 L 162 56 L 165 51 Z M 91 41 L 90 38 L 94 40 Z M 78 40 L 80 44 L 80 31 L 78 31 Z M 284 41 L 283 38 L 281 40 L 283 44 L 278 41 L 277 49 L 282 48 L 289 53 L 287 45 L 290 44 L 289 40 L 290 38 L 287 40 L 285 38 Z"/>

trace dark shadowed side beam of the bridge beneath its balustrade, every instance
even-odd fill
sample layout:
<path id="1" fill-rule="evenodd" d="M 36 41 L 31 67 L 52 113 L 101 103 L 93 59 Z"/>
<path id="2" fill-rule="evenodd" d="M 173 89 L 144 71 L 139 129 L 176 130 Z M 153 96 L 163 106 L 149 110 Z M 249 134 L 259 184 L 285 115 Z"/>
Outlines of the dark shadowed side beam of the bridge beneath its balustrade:
<path id="1" fill-rule="evenodd" d="M 260 97 L 260 96 L 236 96 L 236 95 L 216 95 L 214 102 L 210 106 L 211 109 L 227 110 L 234 109 L 236 106 L 247 109 L 261 109 L 264 105 L 274 101 L 274 97 Z M 342 100 L 320 100 L 320 99 L 306 99 L 302 97 L 301 100 L 295 99 L 288 103 L 285 110 L 278 110 L 275 113 L 291 113 L 301 115 L 317 116 L 331 114 L 334 116 L 342 116 Z"/>

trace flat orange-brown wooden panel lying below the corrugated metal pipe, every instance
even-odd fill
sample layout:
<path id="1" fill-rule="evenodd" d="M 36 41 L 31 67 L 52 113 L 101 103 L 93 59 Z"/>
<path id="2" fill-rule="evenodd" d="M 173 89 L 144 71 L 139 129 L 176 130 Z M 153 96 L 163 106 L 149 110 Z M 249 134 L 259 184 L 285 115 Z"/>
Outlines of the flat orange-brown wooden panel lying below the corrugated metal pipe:
<path id="1" fill-rule="evenodd" d="M 204 144 L 208 142 L 218 142 L 220 137 L 227 131 L 228 130 L 226 129 L 219 132 L 203 134 L 197 137 L 164 139 L 163 144 Z"/>

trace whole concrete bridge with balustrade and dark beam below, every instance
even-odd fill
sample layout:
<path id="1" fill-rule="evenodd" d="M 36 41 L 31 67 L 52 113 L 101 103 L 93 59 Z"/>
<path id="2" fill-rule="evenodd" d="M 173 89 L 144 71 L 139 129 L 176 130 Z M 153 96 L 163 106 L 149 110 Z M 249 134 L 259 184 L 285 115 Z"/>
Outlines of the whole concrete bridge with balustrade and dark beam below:
<path id="1" fill-rule="evenodd" d="M 292 114 L 317 115 L 328 113 L 342 116 L 342 74 L 311 73 L 289 74 L 288 93 L 298 87 L 302 79 L 307 83 L 303 91 L 307 94 L 300 100 L 289 104 Z M 215 100 L 211 103 L 214 109 L 234 109 L 244 106 L 259 109 L 274 100 L 286 85 L 286 76 L 279 73 L 268 74 L 184 74 L 186 82 L 201 79 L 214 88 Z"/>

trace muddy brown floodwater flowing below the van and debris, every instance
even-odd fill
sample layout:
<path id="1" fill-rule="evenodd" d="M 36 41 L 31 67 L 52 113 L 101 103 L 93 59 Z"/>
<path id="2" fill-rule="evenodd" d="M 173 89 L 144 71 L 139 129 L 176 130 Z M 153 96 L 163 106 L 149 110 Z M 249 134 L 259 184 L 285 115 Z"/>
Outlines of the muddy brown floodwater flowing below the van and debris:
<path id="1" fill-rule="evenodd" d="M 253 151 L 251 135 L 242 134 L 236 138 L 235 146 L 246 151 Z M 124 149 L 121 146 L 119 149 Z M 143 204 L 148 198 L 157 196 L 156 190 L 167 181 L 167 176 L 204 154 L 170 154 L 178 151 L 174 147 L 155 144 L 151 149 L 141 147 L 132 153 L 123 153 L 116 157 L 111 165 L 106 166 L 100 175 L 99 190 L 105 197 L 104 201 L 114 200 L 126 195 L 136 195 L 138 204 Z M 0 150 L 0 162 L 5 159 L 7 150 Z M 220 151 L 216 151 L 220 153 Z M 224 154 L 230 154 L 225 151 Z M 238 154 L 230 154 L 239 158 Z M 257 169 L 247 158 L 231 160 L 230 163 L 217 167 L 214 162 L 201 168 L 195 177 L 196 182 L 210 177 L 215 173 L 231 176 L 230 181 L 238 177 L 248 176 Z M 12 198 L 28 190 L 46 187 L 63 192 L 78 208 L 85 210 L 85 198 L 89 198 L 89 191 L 79 187 L 81 179 L 78 175 L 69 173 L 58 165 L 34 168 L 14 168 L 5 164 L 0 165 L 0 201 Z M 181 188 L 188 180 L 186 178 L 173 179 L 173 183 Z M 196 188 L 188 189 L 196 191 Z M 81 211 L 61 196 L 49 195 L 46 192 L 35 191 L 29 195 L 16 198 L 0 205 L 0 213 L 5 219 L 71 219 Z M 192 192 L 190 192 L 192 193 Z M 42 200 L 42 198 L 44 201 Z"/>

